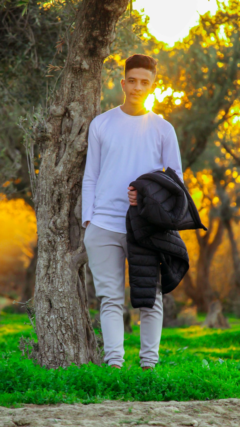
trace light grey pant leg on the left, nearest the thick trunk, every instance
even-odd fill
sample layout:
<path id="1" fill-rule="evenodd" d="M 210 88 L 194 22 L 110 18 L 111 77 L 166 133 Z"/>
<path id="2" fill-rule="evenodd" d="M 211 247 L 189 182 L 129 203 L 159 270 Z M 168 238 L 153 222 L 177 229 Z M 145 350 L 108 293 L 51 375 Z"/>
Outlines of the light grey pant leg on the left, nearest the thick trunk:
<path id="1" fill-rule="evenodd" d="M 105 230 L 90 222 L 84 244 L 88 254 L 96 297 L 101 301 L 100 322 L 104 342 L 104 362 L 122 366 L 124 356 L 123 306 L 125 301 L 126 255 L 121 245 L 123 233 Z"/>

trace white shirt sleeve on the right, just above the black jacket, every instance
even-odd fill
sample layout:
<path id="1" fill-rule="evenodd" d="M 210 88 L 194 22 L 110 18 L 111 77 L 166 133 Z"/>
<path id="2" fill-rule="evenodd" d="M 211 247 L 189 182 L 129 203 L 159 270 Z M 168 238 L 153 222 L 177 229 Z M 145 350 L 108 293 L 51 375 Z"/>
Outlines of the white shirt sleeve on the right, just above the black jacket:
<path id="1" fill-rule="evenodd" d="M 181 154 L 177 135 L 173 126 L 162 143 L 162 161 L 164 170 L 166 170 L 168 166 L 171 167 L 183 182 Z"/>

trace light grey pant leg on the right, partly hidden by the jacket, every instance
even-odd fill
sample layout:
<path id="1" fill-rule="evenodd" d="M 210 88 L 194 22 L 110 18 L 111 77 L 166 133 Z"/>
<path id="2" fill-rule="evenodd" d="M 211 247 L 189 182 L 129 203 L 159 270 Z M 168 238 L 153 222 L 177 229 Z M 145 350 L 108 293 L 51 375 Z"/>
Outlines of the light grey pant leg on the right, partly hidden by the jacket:
<path id="1" fill-rule="evenodd" d="M 122 239 L 126 257 L 127 243 Z M 160 274 L 161 283 L 161 274 Z M 152 366 L 158 362 L 158 350 L 161 340 L 163 324 L 163 303 L 162 293 L 157 288 L 155 304 L 152 308 L 140 307 L 140 366 Z"/>

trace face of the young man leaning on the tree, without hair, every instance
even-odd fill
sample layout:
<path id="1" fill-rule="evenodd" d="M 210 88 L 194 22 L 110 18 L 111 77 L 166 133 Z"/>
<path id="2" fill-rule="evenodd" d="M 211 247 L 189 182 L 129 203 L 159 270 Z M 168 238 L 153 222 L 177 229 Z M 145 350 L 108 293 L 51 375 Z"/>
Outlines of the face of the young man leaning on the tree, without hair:
<path id="1" fill-rule="evenodd" d="M 142 105 L 155 90 L 154 75 L 145 68 L 132 68 L 125 73 L 125 80 L 121 80 L 126 99 L 132 104 Z"/>

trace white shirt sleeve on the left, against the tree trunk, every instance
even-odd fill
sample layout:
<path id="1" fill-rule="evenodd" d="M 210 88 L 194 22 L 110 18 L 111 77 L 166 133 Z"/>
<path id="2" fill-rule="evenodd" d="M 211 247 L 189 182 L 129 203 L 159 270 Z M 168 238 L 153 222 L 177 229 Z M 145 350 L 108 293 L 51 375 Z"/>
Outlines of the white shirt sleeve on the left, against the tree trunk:
<path id="1" fill-rule="evenodd" d="M 101 146 L 96 120 L 92 120 L 88 130 L 88 150 L 82 179 L 82 227 L 91 221 L 94 211 L 95 188 L 100 175 Z"/>

